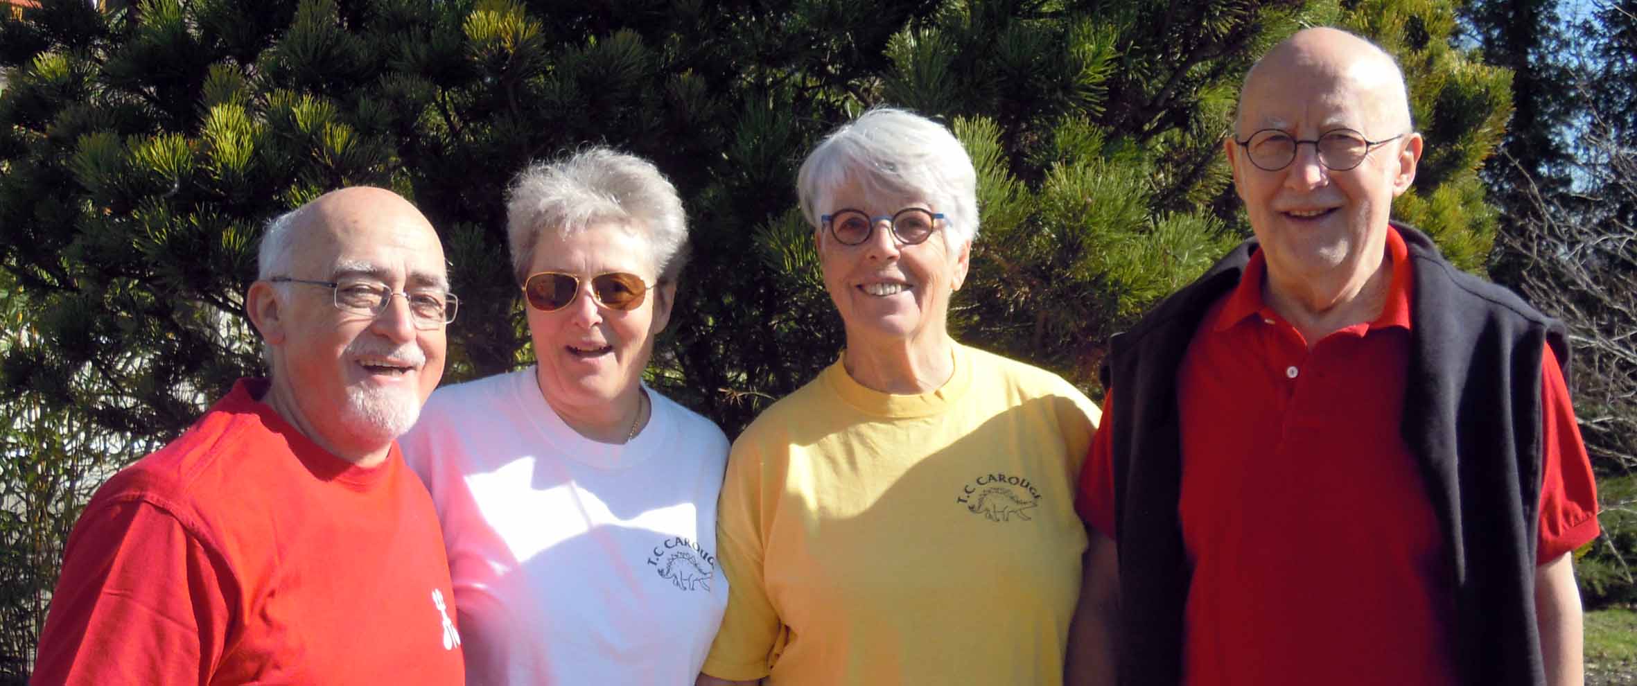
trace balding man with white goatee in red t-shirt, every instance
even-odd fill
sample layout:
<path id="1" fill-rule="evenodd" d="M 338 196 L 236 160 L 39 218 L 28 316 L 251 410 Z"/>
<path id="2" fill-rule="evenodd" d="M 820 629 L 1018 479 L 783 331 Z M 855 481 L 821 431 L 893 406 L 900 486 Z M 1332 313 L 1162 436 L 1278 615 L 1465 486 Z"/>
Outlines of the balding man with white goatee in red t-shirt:
<path id="1" fill-rule="evenodd" d="M 33 684 L 463 681 L 437 511 L 398 454 L 455 314 L 432 224 L 381 188 L 268 224 L 244 378 L 85 506 Z"/>

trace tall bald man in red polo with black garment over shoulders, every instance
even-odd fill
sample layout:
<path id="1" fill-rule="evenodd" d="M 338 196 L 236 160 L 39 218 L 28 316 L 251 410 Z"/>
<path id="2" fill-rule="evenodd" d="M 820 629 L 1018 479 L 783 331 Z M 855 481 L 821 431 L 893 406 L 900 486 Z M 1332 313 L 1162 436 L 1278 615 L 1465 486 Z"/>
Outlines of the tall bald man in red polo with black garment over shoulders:
<path id="1" fill-rule="evenodd" d="M 1246 77 L 1256 241 L 1110 345 L 1069 683 L 1581 683 L 1563 329 L 1388 221 L 1423 146 L 1349 33 Z"/>

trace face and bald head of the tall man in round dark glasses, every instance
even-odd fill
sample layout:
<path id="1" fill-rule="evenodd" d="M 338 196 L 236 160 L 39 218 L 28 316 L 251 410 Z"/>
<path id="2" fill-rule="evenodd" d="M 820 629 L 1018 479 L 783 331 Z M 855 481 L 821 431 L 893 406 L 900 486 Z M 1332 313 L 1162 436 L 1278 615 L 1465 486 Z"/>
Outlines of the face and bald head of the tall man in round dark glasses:
<path id="1" fill-rule="evenodd" d="M 1403 80 L 1369 43 L 1334 29 L 1308 29 L 1269 52 L 1246 80 L 1236 138 L 1280 129 L 1316 139 L 1354 129 L 1380 141 L 1354 169 L 1319 164 L 1300 144 L 1285 169 L 1251 164 L 1246 149 L 1224 142 L 1234 190 L 1267 255 L 1274 280 L 1331 283 L 1367 278 L 1380 264 L 1393 198 L 1409 188 L 1421 136 L 1409 131 Z"/>

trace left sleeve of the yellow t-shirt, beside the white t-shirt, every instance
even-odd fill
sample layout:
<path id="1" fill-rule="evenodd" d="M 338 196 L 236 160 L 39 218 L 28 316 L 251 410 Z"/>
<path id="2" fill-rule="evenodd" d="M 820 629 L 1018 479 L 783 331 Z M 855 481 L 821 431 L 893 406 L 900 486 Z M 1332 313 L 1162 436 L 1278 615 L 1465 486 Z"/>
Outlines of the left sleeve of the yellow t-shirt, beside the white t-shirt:
<path id="1" fill-rule="evenodd" d="M 750 442 L 748 436 L 733 442 L 717 503 L 717 562 L 727 576 L 727 609 L 702 668 L 730 681 L 768 676 L 782 629 L 763 583 L 763 462 Z"/>

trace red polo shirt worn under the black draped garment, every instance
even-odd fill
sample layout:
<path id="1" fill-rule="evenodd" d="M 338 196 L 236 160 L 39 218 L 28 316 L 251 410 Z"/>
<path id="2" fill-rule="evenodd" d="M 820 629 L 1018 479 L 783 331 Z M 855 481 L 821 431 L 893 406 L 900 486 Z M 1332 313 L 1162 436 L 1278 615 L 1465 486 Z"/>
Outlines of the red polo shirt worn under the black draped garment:
<path id="1" fill-rule="evenodd" d="M 1455 683 L 1452 575 L 1400 434 L 1411 264 L 1396 231 L 1387 250 L 1395 269 L 1380 316 L 1311 350 L 1262 301 L 1267 267 L 1257 252 L 1184 357 L 1188 686 Z M 1550 347 L 1540 373 L 1539 560 L 1550 562 L 1598 535 L 1598 499 Z M 1112 539 L 1110 452 L 1120 429 L 1108 408 L 1077 508 Z"/>

